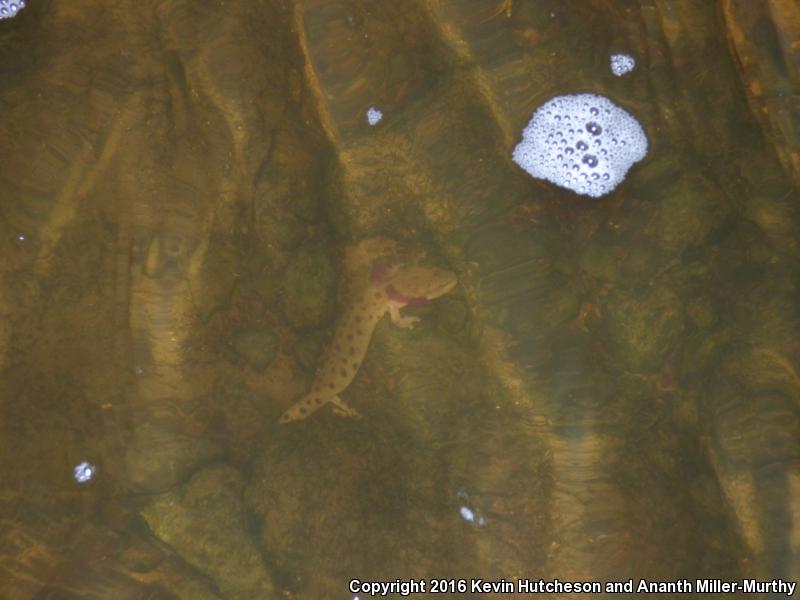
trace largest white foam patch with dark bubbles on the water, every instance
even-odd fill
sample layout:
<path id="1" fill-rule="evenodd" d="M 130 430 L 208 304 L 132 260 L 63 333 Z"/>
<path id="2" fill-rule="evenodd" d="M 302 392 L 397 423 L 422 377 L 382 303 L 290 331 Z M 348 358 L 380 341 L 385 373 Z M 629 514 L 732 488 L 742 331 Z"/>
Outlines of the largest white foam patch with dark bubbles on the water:
<path id="1" fill-rule="evenodd" d="M 647 155 L 642 126 L 605 96 L 556 96 L 536 109 L 511 158 L 537 179 L 599 198 Z"/>

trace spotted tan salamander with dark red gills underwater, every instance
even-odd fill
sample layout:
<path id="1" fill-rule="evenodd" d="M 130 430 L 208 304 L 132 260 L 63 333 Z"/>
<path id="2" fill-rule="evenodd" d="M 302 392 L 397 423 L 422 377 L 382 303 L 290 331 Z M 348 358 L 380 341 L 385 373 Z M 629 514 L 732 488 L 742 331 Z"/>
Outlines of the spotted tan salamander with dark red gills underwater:
<path id="1" fill-rule="evenodd" d="M 427 265 L 376 264 L 368 272 L 366 281 L 351 290 L 311 391 L 283 413 L 280 423 L 305 419 L 328 402 L 339 415 L 358 416 L 338 395 L 355 378 L 381 317 L 388 312 L 395 325 L 411 328 L 419 319 L 401 315 L 401 308 L 439 298 L 458 283 L 455 273 Z"/>

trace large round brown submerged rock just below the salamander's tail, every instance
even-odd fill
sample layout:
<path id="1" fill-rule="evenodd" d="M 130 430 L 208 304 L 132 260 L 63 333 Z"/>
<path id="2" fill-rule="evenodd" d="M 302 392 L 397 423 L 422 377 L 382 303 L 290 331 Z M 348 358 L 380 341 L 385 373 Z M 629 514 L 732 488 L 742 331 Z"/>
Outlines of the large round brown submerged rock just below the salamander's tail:
<path id="1" fill-rule="evenodd" d="M 398 553 L 409 560 L 427 524 L 422 511 L 407 514 L 423 498 L 414 498 L 420 486 L 408 483 L 401 444 L 379 424 L 329 414 L 265 441 L 245 502 L 273 565 L 302 575 L 298 597 L 330 597 L 320 590 L 345 571 L 375 577 Z"/>

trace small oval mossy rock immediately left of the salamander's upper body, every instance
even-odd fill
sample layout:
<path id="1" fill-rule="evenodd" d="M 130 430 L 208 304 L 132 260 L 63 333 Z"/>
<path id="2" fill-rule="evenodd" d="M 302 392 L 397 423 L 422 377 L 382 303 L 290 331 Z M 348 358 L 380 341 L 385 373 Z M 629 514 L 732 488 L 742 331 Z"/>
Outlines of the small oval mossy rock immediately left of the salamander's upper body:
<path id="1" fill-rule="evenodd" d="M 333 316 L 336 270 L 324 247 L 305 244 L 283 276 L 283 311 L 293 327 L 316 327 Z"/>

